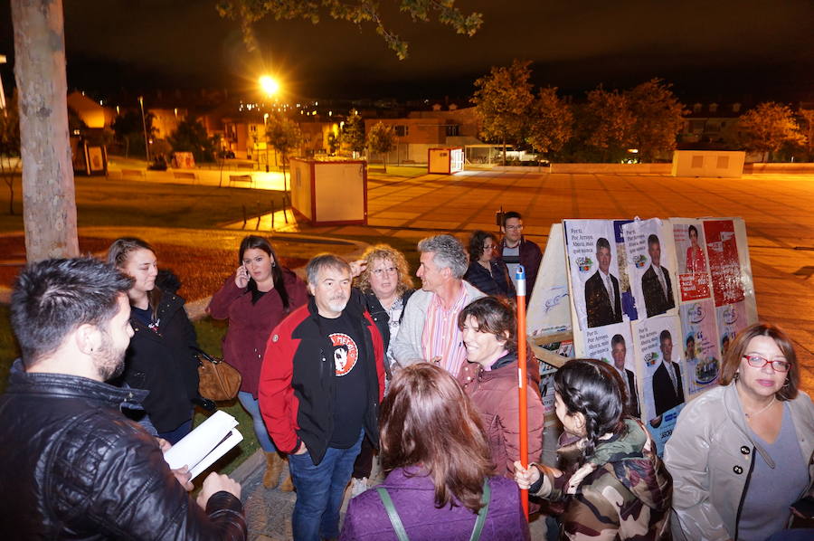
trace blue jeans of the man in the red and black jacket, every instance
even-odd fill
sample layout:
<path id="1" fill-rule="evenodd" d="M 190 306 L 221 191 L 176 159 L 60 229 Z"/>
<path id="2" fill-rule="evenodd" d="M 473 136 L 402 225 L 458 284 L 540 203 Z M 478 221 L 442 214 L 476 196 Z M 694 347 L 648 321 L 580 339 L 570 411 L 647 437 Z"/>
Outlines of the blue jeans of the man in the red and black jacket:
<path id="1" fill-rule="evenodd" d="M 339 508 L 363 437 L 364 431 L 350 449 L 328 447 L 317 466 L 308 452 L 289 454 L 291 480 L 297 489 L 297 503 L 291 517 L 294 541 L 319 541 L 320 538 L 339 536 Z"/>

